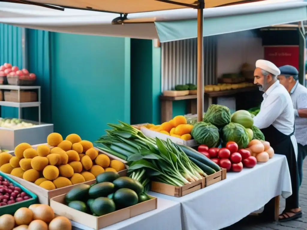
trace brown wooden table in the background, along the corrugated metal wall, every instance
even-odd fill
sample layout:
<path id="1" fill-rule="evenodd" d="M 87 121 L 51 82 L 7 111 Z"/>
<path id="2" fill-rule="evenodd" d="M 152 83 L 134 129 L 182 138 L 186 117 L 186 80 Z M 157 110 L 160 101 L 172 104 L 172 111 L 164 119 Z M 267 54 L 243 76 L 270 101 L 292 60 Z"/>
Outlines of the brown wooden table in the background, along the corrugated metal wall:
<path id="1" fill-rule="evenodd" d="M 258 87 L 245 87 L 233 90 L 222 90 L 205 92 L 204 97 L 208 101 L 208 106 L 212 105 L 212 99 L 216 97 L 230 96 L 237 93 L 250 92 L 258 90 Z M 197 95 L 185 95 L 177 97 L 160 96 L 161 100 L 161 123 L 173 119 L 173 101 L 188 100 L 188 113 L 197 113 Z"/>

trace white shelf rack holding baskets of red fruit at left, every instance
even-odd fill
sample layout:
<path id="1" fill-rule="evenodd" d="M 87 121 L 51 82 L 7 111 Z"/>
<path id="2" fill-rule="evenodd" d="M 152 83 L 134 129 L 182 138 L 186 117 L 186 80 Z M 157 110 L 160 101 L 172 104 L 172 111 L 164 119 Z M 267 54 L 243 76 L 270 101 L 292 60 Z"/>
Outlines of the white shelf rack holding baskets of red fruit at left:
<path id="1" fill-rule="evenodd" d="M 0 90 L 17 90 L 18 101 L 20 101 L 20 90 L 38 90 L 37 102 L 6 102 L 0 101 L 0 106 L 18 108 L 18 118 L 21 119 L 21 108 L 38 107 L 38 122 L 41 123 L 41 86 L 13 86 L 0 85 Z"/>

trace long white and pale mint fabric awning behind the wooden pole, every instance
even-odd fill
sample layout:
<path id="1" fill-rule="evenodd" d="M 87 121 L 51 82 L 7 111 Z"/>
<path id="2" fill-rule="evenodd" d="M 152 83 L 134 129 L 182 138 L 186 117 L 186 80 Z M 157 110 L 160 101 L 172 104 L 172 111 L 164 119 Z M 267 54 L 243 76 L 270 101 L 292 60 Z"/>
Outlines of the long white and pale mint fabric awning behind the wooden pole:
<path id="1" fill-rule="evenodd" d="M 307 2 L 303 0 L 266 0 L 204 9 L 204 36 L 306 20 L 306 6 Z M 111 25 L 116 17 L 119 14 L 75 9 L 60 11 L 0 2 L 0 23 L 20 27 L 62 33 L 160 39 L 161 42 L 196 37 L 197 11 L 194 9 L 131 13 L 123 25 Z M 168 23 L 173 23 L 172 27 Z M 178 27 L 178 24 L 184 25 L 182 28 L 190 27 L 191 34 Z M 171 37 L 167 37 L 168 34 Z"/>

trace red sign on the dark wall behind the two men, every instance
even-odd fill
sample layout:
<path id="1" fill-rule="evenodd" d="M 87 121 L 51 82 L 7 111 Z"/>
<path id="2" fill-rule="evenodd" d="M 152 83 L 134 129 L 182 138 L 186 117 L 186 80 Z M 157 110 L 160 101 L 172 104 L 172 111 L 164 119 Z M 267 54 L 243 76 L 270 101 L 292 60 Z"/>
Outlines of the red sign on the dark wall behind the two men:
<path id="1" fill-rule="evenodd" d="M 266 46 L 264 59 L 273 62 L 277 67 L 291 65 L 298 70 L 298 46 Z"/>

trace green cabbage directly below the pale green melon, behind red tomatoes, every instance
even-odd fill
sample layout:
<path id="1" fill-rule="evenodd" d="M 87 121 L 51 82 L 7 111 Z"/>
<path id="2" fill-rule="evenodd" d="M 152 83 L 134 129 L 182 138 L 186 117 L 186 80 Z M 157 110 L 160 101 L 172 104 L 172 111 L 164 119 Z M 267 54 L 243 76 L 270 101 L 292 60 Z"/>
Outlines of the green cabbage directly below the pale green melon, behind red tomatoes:
<path id="1" fill-rule="evenodd" d="M 234 141 L 238 144 L 240 148 L 246 148 L 249 143 L 248 132 L 238 123 L 229 123 L 225 125 L 223 130 L 223 145 L 225 145 L 228 141 Z"/>

